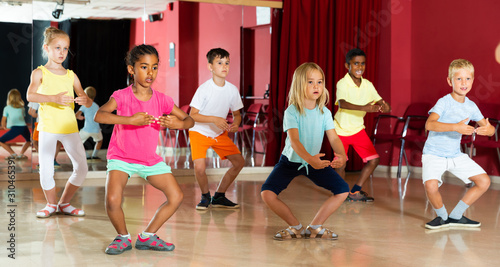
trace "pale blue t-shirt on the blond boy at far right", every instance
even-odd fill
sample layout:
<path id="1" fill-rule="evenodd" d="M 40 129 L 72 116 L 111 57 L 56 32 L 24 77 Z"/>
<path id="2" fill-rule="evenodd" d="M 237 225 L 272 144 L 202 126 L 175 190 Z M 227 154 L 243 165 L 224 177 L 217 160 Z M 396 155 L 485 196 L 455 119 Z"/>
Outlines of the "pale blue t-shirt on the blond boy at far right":
<path id="1" fill-rule="evenodd" d="M 469 118 L 469 121 L 482 120 L 483 114 L 468 97 L 465 97 L 464 103 L 457 102 L 451 94 L 440 98 L 436 105 L 431 108 L 429 114 L 439 115 L 438 122 L 457 123 Z M 469 123 L 467 121 L 466 123 Z M 458 132 L 434 132 L 429 131 L 427 141 L 425 141 L 423 154 L 431 154 L 444 158 L 455 158 L 463 153 L 460 151 L 460 140 L 462 134 Z"/>

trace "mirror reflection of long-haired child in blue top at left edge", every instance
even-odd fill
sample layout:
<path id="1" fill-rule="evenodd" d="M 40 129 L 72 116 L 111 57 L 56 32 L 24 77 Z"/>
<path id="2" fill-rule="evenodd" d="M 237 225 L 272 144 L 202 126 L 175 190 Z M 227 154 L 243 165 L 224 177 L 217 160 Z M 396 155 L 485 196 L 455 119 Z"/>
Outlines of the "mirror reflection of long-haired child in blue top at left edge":
<path id="1" fill-rule="evenodd" d="M 7 94 L 7 106 L 3 109 L 2 129 L 9 129 L 2 137 L 0 137 L 0 146 L 9 152 L 10 156 L 5 159 L 26 159 L 24 152 L 31 145 L 30 130 L 26 126 L 24 120 L 24 101 L 21 98 L 21 93 L 17 89 L 11 89 Z M 26 142 L 21 148 L 21 153 L 16 154 L 12 147 L 6 142 L 22 135 Z"/>

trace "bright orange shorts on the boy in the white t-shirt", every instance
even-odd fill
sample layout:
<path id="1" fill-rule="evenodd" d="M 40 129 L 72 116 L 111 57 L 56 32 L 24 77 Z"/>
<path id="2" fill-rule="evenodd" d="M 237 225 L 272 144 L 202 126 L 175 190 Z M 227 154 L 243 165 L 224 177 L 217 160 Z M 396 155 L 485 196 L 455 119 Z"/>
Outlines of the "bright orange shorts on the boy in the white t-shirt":
<path id="1" fill-rule="evenodd" d="M 211 138 L 195 131 L 189 131 L 189 140 L 191 142 L 191 157 L 193 160 L 204 159 L 207 157 L 207 150 L 212 149 L 221 159 L 226 159 L 229 155 L 241 154 L 233 140 L 227 136 L 227 131 L 221 135 Z"/>

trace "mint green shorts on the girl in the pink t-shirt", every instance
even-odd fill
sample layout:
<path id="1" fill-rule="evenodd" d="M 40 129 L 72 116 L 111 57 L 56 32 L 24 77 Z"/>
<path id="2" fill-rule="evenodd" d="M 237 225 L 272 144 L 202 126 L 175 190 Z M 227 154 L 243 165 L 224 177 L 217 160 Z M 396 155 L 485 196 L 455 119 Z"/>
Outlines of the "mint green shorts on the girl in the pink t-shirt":
<path id="1" fill-rule="evenodd" d="M 138 174 L 144 179 L 147 179 L 148 176 L 153 176 L 153 175 L 159 175 L 159 174 L 165 174 L 165 173 L 172 173 L 172 169 L 170 166 L 168 166 L 165 162 L 160 162 L 157 163 L 153 166 L 146 166 L 142 164 L 135 164 L 135 163 L 127 163 L 125 161 L 117 160 L 117 159 L 110 159 L 108 160 L 108 171 L 106 173 L 109 173 L 110 171 L 121 171 L 125 172 L 128 174 L 128 178 L 130 179 L 130 176 L 134 174 Z"/>

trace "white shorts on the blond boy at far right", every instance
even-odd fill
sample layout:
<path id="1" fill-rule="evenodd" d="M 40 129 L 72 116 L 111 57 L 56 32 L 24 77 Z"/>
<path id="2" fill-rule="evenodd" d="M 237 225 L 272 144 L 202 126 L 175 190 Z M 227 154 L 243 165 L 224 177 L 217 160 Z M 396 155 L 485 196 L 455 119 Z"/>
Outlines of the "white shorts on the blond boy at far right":
<path id="1" fill-rule="evenodd" d="M 434 155 L 422 155 L 422 180 L 425 184 L 429 180 L 438 180 L 443 184 L 442 176 L 445 171 L 451 172 L 464 183 L 471 183 L 470 177 L 486 173 L 481 166 L 469 156 L 463 154 L 456 158 L 443 158 Z"/>

